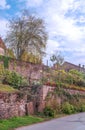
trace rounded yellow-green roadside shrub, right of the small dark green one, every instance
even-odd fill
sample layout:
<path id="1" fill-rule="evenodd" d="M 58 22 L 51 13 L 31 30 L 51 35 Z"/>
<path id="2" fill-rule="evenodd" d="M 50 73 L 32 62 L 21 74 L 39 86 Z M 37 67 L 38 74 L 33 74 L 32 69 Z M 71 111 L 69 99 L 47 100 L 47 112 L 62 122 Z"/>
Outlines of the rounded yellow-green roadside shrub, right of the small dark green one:
<path id="1" fill-rule="evenodd" d="M 73 105 L 69 104 L 68 102 L 64 103 L 62 105 L 62 111 L 65 113 L 65 114 L 72 114 L 74 113 L 74 107 Z"/>

